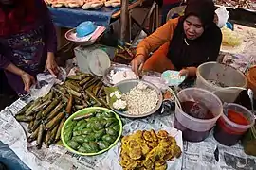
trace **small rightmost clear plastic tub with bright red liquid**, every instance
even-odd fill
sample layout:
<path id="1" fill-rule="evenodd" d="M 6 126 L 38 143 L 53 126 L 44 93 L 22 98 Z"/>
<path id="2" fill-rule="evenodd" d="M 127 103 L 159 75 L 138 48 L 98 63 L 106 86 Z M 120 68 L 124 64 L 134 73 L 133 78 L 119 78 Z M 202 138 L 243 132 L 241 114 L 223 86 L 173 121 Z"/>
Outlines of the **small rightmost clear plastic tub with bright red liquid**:
<path id="1" fill-rule="evenodd" d="M 237 144 L 254 122 L 254 115 L 247 108 L 234 103 L 225 104 L 224 114 L 214 128 L 214 138 L 220 144 Z"/>

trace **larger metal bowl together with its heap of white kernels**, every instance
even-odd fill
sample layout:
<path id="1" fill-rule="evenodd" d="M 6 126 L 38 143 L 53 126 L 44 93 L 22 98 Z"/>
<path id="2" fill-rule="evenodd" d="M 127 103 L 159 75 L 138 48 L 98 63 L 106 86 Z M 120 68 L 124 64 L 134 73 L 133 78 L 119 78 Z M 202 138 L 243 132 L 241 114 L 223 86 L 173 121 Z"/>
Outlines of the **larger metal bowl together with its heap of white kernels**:
<path id="1" fill-rule="evenodd" d="M 154 114 L 162 106 L 161 91 L 152 83 L 130 79 L 115 85 L 121 93 L 121 100 L 126 102 L 127 110 L 115 110 L 122 116 L 140 118 Z"/>

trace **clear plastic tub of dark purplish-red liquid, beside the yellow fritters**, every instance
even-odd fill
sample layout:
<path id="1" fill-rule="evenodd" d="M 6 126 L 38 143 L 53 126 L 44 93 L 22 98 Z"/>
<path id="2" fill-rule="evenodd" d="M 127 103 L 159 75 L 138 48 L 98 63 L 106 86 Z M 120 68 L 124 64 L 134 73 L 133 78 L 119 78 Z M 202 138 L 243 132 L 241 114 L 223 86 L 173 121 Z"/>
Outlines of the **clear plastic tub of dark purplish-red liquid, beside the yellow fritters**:
<path id="1" fill-rule="evenodd" d="M 205 140 L 209 136 L 210 129 L 223 113 L 221 100 L 215 94 L 199 88 L 184 89 L 177 93 L 177 97 L 183 109 L 176 104 L 174 127 L 182 131 L 183 139 L 186 141 L 200 142 Z M 201 118 L 195 118 L 192 114 L 184 112 L 183 106 L 187 102 L 198 103 L 194 107 L 195 109 L 198 109 L 200 105 L 204 106 L 208 110 L 205 113 L 210 113 L 210 117 L 207 118 L 207 115 L 203 115 L 205 116 L 203 119 L 200 115 Z"/>

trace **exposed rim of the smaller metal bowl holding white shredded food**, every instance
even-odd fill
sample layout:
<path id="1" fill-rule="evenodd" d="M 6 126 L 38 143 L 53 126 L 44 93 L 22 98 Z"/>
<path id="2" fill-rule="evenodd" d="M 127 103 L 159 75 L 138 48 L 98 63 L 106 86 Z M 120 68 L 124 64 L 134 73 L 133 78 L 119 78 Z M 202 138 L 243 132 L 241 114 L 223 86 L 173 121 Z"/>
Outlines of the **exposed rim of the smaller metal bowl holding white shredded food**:
<path id="1" fill-rule="evenodd" d="M 113 84 L 111 82 L 111 76 L 110 76 L 110 72 L 114 71 L 115 73 L 117 71 L 131 71 L 132 67 L 129 65 L 124 65 L 124 64 L 119 64 L 119 65 L 112 65 L 110 66 L 108 69 L 106 69 L 104 75 L 103 75 L 103 82 L 105 83 L 106 86 L 114 86 L 115 84 Z"/>

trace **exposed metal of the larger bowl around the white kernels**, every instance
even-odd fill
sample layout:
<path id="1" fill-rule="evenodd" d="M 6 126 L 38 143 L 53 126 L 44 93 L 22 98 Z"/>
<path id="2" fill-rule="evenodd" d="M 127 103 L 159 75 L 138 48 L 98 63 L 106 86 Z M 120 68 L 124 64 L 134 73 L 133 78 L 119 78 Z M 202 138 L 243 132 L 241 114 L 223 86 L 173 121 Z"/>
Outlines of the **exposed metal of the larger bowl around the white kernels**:
<path id="1" fill-rule="evenodd" d="M 151 110 L 150 112 L 140 114 L 140 115 L 133 115 L 133 114 L 129 114 L 127 111 L 115 110 L 112 106 L 110 106 L 112 110 L 115 110 L 120 115 L 122 115 L 124 117 L 129 117 L 129 118 L 146 117 L 146 116 L 149 116 L 151 114 L 154 114 L 157 110 L 160 110 L 160 108 L 162 106 L 163 95 L 162 95 L 161 91 L 155 85 L 153 85 L 152 83 L 147 82 L 147 81 L 143 81 L 143 80 L 138 80 L 138 79 L 130 79 L 130 80 L 124 80 L 124 81 L 119 82 L 118 84 L 115 85 L 115 87 L 118 87 L 118 89 L 121 93 L 128 93 L 132 88 L 137 86 L 138 82 L 143 82 L 149 88 L 154 89 L 156 91 L 156 93 L 158 94 L 159 100 L 158 100 L 158 103 L 155 106 L 155 108 L 153 110 Z"/>

